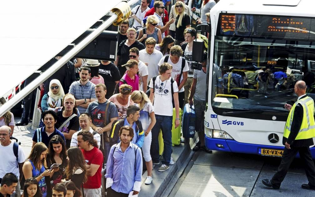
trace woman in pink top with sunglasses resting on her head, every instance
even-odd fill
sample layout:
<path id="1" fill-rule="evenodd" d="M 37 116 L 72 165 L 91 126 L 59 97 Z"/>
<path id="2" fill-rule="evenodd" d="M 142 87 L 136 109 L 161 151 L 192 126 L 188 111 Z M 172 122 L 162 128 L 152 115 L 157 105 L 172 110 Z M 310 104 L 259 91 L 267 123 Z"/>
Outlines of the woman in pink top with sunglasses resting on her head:
<path id="1" fill-rule="evenodd" d="M 127 116 L 127 107 L 134 104 L 134 102 L 130 99 L 131 92 L 131 85 L 122 84 L 119 86 L 119 94 L 114 94 L 108 99 L 116 105 L 118 119 L 124 119 Z"/>

